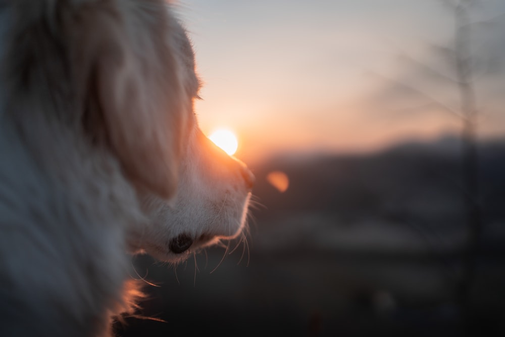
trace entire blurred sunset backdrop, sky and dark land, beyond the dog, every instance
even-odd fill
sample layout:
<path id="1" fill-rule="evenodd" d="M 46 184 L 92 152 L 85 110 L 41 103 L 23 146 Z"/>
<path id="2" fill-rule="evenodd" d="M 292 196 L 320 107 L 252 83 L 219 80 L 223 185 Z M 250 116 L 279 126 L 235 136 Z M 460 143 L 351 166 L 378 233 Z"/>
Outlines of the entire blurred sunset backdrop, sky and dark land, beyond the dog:
<path id="1" fill-rule="evenodd" d="M 505 2 L 186 0 L 247 240 L 135 257 L 118 336 L 505 335 Z"/>

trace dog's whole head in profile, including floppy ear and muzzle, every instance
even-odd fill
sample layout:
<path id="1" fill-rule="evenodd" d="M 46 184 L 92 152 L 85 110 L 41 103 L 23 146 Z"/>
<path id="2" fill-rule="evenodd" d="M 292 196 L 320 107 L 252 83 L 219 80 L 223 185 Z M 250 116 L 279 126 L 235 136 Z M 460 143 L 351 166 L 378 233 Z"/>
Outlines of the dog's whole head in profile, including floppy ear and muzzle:
<path id="1" fill-rule="evenodd" d="M 254 176 L 198 128 L 193 50 L 170 6 L 11 3 L 7 73 L 44 115 L 117 159 L 149 218 L 128 230 L 132 251 L 177 261 L 237 235 Z"/>

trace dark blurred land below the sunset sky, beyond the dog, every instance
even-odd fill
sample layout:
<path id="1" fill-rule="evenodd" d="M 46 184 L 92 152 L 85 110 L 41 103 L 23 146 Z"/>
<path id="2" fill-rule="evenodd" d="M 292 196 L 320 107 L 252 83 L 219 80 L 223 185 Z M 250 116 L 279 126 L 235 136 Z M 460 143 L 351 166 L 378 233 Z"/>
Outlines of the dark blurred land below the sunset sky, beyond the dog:
<path id="1" fill-rule="evenodd" d="M 505 146 L 480 147 L 482 230 L 470 277 L 460 163 L 458 143 L 444 139 L 259 165 L 254 192 L 265 207 L 254 211 L 248 245 L 176 268 L 134 258 L 159 285 L 145 285 L 138 313 L 163 322 L 126 318 L 116 333 L 505 335 Z M 266 181 L 273 170 L 290 179 L 282 194 Z"/>

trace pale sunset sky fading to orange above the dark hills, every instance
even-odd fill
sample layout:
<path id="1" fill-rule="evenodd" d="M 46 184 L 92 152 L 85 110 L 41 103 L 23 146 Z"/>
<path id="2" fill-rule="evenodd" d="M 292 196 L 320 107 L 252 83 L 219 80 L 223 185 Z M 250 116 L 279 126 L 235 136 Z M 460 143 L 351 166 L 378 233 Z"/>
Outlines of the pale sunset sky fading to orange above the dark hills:
<path id="1" fill-rule="evenodd" d="M 478 98 L 486 103 L 478 130 L 484 138 L 499 137 L 505 131 L 505 76 L 498 69 L 505 65 L 499 17 L 505 2 L 479 3 L 472 19 L 498 17 L 498 23 L 475 30 L 476 55 L 490 51 L 489 59 L 499 62 L 498 75 L 484 71 L 478 78 Z M 397 93 L 386 103 L 372 99 L 399 81 L 423 86 L 430 98 L 458 109 L 457 86 L 426 81 L 401 57 L 450 68 L 432 51 L 453 38 L 453 17 L 440 1 L 186 0 L 177 8 L 204 82 L 203 100 L 195 104 L 200 127 L 207 134 L 234 131 L 239 158 L 367 152 L 459 132 L 461 120 L 446 111 L 398 113 L 390 107 L 406 98 Z"/>

